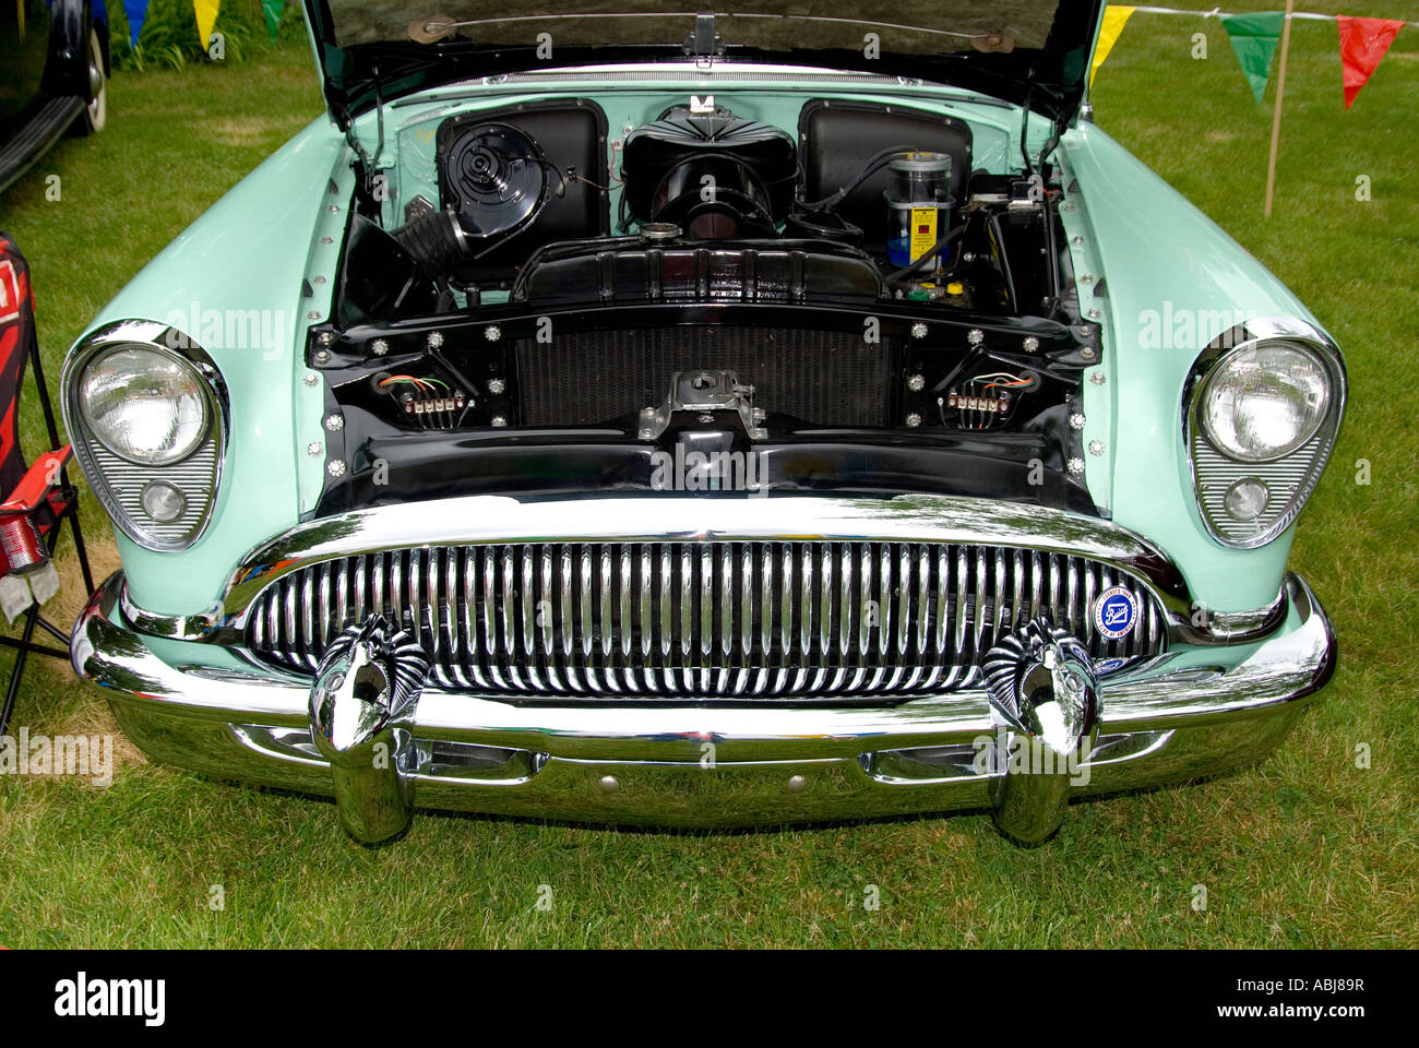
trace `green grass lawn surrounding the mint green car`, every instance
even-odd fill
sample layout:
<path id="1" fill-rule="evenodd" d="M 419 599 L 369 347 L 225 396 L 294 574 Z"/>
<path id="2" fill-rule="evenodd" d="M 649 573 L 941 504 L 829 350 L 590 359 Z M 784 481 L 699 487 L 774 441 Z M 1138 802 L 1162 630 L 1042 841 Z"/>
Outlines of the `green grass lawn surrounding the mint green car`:
<path id="1" fill-rule="evenodd" d="M 1419 3 L 1361 13 L 1419 18 Z M 1189 55 L 1199 31 L 1205 61 Z M 1293 554 L 1341 663 L 1264 764 L 1076 805 L 1036 851 L 975 815 L 685 835 L 427 814 L 397 845 L 366 849 L 329 804 L 150 765 L 119 736 L 108 788 L 0 777 L 0 946 L 1419 946 L 1416 97 L 1419 28 L 1347 114 L 1334 24 L 1297 21 L 1264 220 L 1271 94 L 1254 105 L 1220 24 L 1135 14 L 1098 74 L 1100 125 L 1286 280 L 1347 352 L 1345 427 Z M 0 196 L 0 227 L 37 271 L 51 383 L 98 308 L 319 111 L 301 41 L 230 68 L 114 78 L 108 131 L 64 142 Z M 60 200 L 45 199 L 50 175 Z M 37 447 L 41 430 L 27 432 Z M 85 511 L 106 574 L 105 523 L 92 498 Z M 53 618 L 68 622 L 81 585 L 71 562 L 64 572 Z M 20 726 L 116 734 L 101 696 L 53 663 L 31 663 Z M 542 885 L 549 910 L 535 906 Z M 864 909 L 868 886 L 880 909 Z"/>

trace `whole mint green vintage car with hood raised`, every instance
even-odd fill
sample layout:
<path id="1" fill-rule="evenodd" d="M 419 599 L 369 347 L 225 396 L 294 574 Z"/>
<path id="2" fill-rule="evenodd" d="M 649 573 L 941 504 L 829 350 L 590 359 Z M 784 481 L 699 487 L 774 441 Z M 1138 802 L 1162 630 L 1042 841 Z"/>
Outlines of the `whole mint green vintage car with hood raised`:
<path id="1" fill-rule="evenodd" d="M 307 0 L 328 115 L 70 354 L 153 758 L 734 826 L 1256 761 L 1330 335 L 1090 121 L 1103 4 Z"/>

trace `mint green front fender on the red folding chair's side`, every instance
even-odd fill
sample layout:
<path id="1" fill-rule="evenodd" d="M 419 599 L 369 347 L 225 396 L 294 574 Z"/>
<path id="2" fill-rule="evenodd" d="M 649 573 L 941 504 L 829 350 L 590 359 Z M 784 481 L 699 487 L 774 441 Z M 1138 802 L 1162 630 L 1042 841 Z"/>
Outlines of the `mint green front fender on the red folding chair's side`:
<path id="1" fill-rule="evenodd" d="M 348 195 L 331 192 L 343 158 L 343 138 L 328 118 L 316 119 L 183 230 L 89 327 L 123 318 L 176 327 L 210 354 L 231 402 L 207 531 L 180 552 L 118 535 L 131 595 L 143 608 L 210 609 L 247 550 L 315 506 L 325 460 L 305 449 L 322 440 L 324 392 L 301 381 L 299 346 L 311 314 L 324 320 L 329 308 L 333 281 L 316 287 L 308 274 L 312 266 L 332 268 L 339 250 L 338 236 L 321 244 L 315 230 L 345 217 Z"/>

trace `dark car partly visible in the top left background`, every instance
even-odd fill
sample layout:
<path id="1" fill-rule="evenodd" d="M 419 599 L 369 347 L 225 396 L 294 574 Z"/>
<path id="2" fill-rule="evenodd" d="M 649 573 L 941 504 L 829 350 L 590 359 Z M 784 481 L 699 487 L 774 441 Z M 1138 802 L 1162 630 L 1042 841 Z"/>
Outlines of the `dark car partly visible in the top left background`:
<path id="1" fill-rule="evenodd" d="M 104 0 L 0 3 L 0 192 L 67 131 L 102 129 L 108 43 Z"/>

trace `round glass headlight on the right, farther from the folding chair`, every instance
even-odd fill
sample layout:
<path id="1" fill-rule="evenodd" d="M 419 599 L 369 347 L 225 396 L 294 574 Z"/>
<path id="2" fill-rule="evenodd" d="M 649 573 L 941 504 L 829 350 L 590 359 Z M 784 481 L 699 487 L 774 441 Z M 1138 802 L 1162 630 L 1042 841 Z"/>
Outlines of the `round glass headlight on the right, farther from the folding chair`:
<path id="1" fill-rule="evenodd" d="M 1304 444 L 1330 405 L 1325 365 L 1290 342 L 1259 342 L 1208 375 L 1199 409 L 1218 450 L 1237 462 L 1271 462 Z"/>

